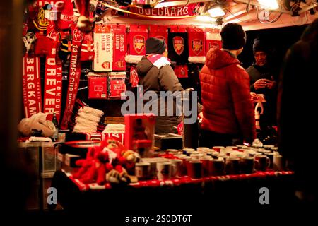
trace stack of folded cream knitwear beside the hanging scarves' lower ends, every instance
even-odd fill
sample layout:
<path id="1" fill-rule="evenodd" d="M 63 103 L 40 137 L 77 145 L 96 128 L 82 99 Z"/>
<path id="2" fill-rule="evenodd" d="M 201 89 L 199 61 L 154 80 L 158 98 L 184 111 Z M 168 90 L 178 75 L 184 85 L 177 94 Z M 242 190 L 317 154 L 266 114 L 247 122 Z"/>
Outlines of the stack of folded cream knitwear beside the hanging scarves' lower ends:
<path id="1" fill-rule="evenodd" d="M 78 109 L 78 116 L 75 118 L 73 132 L 76 133 L 96 133 L 100 118 L 104 112 L 93 107 L 81 107 Z"/>

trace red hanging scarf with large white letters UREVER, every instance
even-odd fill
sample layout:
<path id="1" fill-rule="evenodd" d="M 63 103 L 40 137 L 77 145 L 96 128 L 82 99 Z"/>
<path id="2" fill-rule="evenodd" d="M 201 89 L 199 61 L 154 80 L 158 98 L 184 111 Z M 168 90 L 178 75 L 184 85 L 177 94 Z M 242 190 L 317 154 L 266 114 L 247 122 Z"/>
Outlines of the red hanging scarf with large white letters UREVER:
<path id="1" fill-rule="evenodd" d="M 47 117 L 49 120 L 52 120 L 53 113 L 55 112 L 57 121 L 59 122 L 61 115 L 62 69 L 61 61 L 57 58 L 57 45 L 61 41 L 61 33 L 52 30 L 47 36 L 52 39 L 53 46 L 45 60 L 43 112 L 49 113 Z"/>

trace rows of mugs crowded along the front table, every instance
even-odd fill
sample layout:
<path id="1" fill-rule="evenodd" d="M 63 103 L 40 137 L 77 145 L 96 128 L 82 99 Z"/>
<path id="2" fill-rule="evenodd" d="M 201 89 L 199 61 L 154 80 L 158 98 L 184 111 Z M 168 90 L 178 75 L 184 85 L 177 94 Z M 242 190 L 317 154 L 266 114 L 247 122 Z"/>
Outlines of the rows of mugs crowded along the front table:
<path id="1" fill-rule="evenodd" d="M 273 145 L 253 148 L 244 145 L 213 148 L 168 149 L 172 159 L 143 158 L 136 163 L 139 179 L 171 179 L 189 176 L 199 179 L 225 174 L 252 174 L 256 171 L 283 170 L 282 156 Z"/>

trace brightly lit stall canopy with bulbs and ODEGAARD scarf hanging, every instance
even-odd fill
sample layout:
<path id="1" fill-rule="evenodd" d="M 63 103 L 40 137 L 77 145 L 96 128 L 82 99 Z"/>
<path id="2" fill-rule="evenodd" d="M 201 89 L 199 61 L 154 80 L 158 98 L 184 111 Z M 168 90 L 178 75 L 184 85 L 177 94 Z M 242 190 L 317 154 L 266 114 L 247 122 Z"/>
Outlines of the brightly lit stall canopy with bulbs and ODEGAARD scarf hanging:
<path id="1" fill-rule="evenodd" d="M 105 7 L 110 23 L 184 24 L 216 28 L 240 23 L 245 30 L 311 23 L 318 17 L 317 0 L 93 0 Z M 273 2 L 274 5 L 269 5 Z M 275 7 L 276 4 L 276 7 Z M 215 10 L 216 9 L 216 10 Z M 154 22 L 155 20 L 155 22 Z"/>

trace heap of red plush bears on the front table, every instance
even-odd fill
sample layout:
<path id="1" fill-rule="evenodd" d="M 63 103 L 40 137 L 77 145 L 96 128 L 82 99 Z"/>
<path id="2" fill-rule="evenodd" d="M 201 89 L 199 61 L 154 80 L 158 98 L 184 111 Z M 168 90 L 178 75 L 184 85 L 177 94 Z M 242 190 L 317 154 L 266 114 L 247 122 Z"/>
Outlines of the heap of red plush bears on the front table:
<path id="1" fill-rule="evenodd" d="M 103 145 L 91 148 L 86 160 L 76 161 L 76 165 L 81 166 L 81 169 L 74 173 L 73 177 L 86 184 L 127 184 L 131 180 L 125 167 L 131 172 L 137 160 L 138 156 L 134 151 L 125 150 L 124 145 L 109 139 Z"/>

